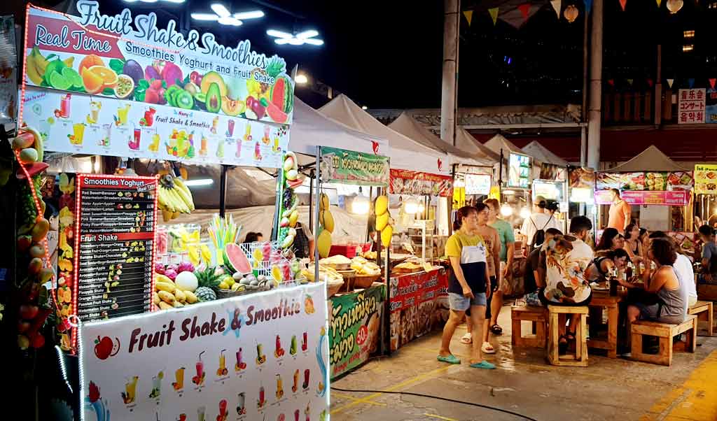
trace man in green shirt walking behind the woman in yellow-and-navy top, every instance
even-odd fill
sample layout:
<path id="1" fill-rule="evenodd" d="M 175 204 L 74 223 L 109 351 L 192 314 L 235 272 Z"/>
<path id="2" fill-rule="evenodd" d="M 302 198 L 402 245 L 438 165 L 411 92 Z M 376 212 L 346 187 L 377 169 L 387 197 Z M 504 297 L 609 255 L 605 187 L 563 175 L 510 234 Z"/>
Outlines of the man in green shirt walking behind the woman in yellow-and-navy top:
<path id="1" fill-rule="evenodd" d="M 495 282 L 495 292 L 490 302 L 490 331 L 499 335 L 503 333 L 503 328 L 498 326 L 498 314 L 503 308 L 503 292 L 508 290 L 508 281 L 513 277 L 513 253 L 515 252 L 516 238 L 513 236 L 513 226 L 508 221 L 498 219 L 500 212 L 500 203 L 496 199 L 485 200 L 488 205 L 490 215 L 488 216 L 488 225 L 498 231 L 500 238 L 500 271 L 496 271 L 498 277 Z"/>

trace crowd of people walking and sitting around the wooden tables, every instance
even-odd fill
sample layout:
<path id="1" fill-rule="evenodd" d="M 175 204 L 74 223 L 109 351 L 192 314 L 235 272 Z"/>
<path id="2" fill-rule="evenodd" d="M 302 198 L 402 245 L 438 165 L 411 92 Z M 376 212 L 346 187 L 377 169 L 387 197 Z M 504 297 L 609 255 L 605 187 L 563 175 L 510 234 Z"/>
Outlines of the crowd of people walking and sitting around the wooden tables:
<path id="1" fill-rule="evenodd" d="M 690 258 L 674 239 L 663 231 L 648 232 L 632 221 L 630 205 L 612 192 L 608 227 L 594 248 L 592 222 L 576 216 L 569 232 L 560 230 L 554 218 L 556 207 L 538 196 L 533 213 L 523 222 L 526 259 L 523 273 L 526 304 L 531 306 L 586 306 L 593 288 L 617 282 L 625 289 L 625 321 L 638 319 L 669 324 L 682 323 L 690 306 L 697 301 L 695 272 Z M 503 306 L 513 266 L 515 240 L 511 224 L 498 218 L 498 200 L 488 199 L 457 210 L 454 233 L 445 251 L 453 268 L 449 281 L 450 318 L 444 326 L 437 359 L 460 364 L 450 351 L 455 329 L 466 321 L 467 333 L 461 338 L 472 344 L 470 367 L 495 369 L 483 359 L 494 354 L 489 335 L 502 334 L 498 314 Z M 698 266 L 701 281 L 717 280 L 715 231 L 699 228 L 703 241 Z M 695 266 L 697 267 L 697 266 Z M 568 315 L 569 316 L 569 315 Z M 575 341 L 577 315 L 559 323 L 561 352 Z"/>

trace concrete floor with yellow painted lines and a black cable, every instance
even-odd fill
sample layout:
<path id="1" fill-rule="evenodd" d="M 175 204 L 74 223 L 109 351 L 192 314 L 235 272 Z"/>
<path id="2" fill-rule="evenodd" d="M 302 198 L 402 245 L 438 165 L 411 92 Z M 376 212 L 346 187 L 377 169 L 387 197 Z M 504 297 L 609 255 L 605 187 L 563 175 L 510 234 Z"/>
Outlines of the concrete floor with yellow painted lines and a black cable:
<path id="1" fill-rule="evenodd" d="M 695 354 L 676 353 L 672 367 L 589 355 L 589 367 L 553 367 L 541 349 L 511 347 L 511 311 L 503 307 L 504 333 L 488 356 L 498 369 L 467 366 L 469 346 L 454 335 L 452 352 L 464 364 L 436 361 L 440 332 L 407 344 L 391 357 L 374 359 L 332 383 L 342 389 L 413 392 L 473 402 L 554 420 L 717 420 L 717 337 L 698 337 Z M 527 322 L 523 322 L 527 323 Z M 526 326 L 523 327 L 526 330 Z M 604 354 L 602 354 L 604 355 Z M 525 418 L 442 400 L 331 391 L 331 420 L 495 420 Z"/>

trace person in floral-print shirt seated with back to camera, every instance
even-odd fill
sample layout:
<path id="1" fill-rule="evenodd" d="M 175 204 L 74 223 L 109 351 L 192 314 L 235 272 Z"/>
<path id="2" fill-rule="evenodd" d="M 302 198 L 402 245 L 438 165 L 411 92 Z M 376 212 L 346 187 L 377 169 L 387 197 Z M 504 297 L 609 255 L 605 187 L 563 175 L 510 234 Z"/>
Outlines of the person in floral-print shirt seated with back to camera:
<path id="1" fill-rule="evenodd" d="M 576 216 L 570 221 L 570 234 L 554 236 L 546 246 L 546 288 L 540 295 L 545 306 L 586 306 L 592 298 L 592 291 L 585 271 L 592 262 L 593 251 L 585 243 L 592 231 L 592 222 L 586 216 Z M 561 314 L 561 316 L 563 316 Z M 575 326 L 578 315 L 573 314 L 569 332 L 565 332 L 565 321 L 559 324 L 560 346 L 575 340 Z"/>

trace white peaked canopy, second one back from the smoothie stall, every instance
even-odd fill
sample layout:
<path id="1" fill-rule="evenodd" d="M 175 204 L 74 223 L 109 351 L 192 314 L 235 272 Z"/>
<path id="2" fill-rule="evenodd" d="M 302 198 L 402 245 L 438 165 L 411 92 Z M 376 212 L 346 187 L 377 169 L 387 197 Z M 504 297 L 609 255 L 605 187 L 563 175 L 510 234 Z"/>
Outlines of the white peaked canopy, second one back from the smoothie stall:
<path id="1" fill-rule="evenodd" d="M 451 162 L 448 155 L 440 150 L 424 146 L 385 126 L 379 120 L 371 117 L 368 112 L 361 110 L 361 107 L 346 95 L 334 98 L 321 107 L 319 112 L 355 130 L 388 140 L 389 153 L 379 151 L 379 155 L 388 155 L 391 158 L 391 168 L 436 174 L 450 172 Z M 347 147 L 347 149 L 351 149 L 351 147 Z"/>

